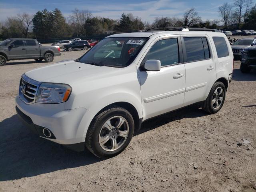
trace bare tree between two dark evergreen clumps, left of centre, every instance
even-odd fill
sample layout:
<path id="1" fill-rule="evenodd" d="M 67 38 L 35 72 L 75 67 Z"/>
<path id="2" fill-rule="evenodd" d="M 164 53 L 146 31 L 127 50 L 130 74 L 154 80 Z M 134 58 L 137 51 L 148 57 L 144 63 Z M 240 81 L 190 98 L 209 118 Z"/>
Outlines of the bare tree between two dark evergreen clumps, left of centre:
<path id="1" fill-rule="evenodd" d="M 70 21 L 74 25 L 74 30 L 77 36 L 85 34 L 84 24 L 86 20 L 92 18 L 92 13 L 89 10 L 78 10 L 75 8 L 70 15 Z"/>

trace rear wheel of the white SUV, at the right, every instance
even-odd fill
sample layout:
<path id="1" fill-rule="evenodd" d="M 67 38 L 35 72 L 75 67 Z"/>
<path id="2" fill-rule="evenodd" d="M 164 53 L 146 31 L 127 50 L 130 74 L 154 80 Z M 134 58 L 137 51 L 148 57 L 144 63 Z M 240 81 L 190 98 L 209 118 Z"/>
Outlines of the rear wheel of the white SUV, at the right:
<path id="1" fill-rule="evenodd" d="M 223 106 L 226 98 L 226 88 L 222 82 L 213 84 L 206 100 L 202 103 L 202 109 L 208 113 L 217 113 Z"/>

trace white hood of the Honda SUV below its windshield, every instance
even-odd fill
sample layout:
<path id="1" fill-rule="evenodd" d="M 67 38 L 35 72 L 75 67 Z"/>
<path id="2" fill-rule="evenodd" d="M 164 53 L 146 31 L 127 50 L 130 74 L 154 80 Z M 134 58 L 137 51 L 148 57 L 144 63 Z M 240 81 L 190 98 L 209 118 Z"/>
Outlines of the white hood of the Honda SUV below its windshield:
<path id="1" fill-rule="evenodd" d="M 120 68 L 95 66 L 74 60 L 50 64 L 26 72 L 26 76 L 39 82 L 72 84 L 85 79 L 98 79 L 116 73 Z M 114 74 L 113 74 L 114 75 Z"/>

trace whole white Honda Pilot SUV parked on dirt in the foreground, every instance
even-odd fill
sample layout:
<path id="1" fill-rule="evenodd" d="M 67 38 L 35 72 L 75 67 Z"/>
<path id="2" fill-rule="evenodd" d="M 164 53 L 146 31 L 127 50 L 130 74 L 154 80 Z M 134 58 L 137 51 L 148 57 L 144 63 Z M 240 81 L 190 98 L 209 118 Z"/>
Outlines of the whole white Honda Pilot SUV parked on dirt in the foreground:
<path id="1" fill-rule="evenodd" d="M 232 72 L 223 33 L 114 34 L 77 60 L 24 73 L 16 111 L 40 137 L 109 158 L 149 118 L 198 102 L 218 112 Z"/>

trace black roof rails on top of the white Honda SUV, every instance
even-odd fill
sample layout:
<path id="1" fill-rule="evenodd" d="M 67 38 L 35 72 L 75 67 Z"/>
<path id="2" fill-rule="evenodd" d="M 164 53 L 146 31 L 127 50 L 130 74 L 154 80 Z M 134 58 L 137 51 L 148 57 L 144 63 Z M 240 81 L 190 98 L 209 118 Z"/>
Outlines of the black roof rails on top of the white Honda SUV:
<path id="1" fill-rule="evenodd" d="M 150 28 L 146 31 L 215 31 L 216 29 L 208 29 L 206 27 L 188 27 L 188 26 L 178 26 L 178 27 L 158 27 L 158 28 Z"/>

